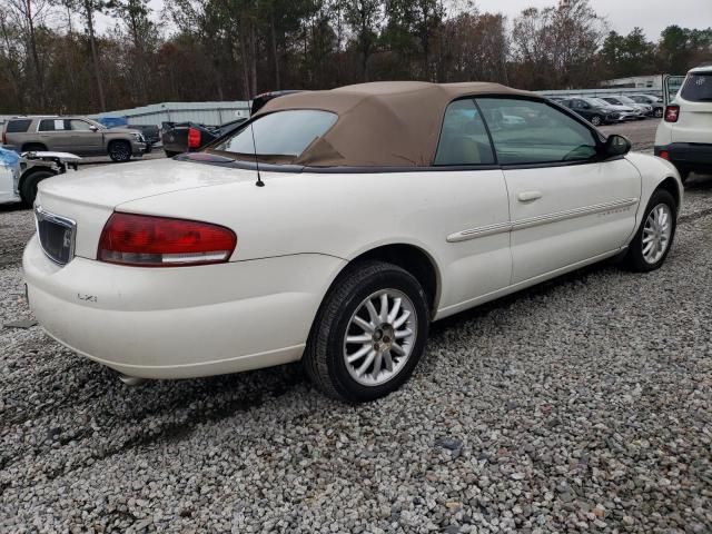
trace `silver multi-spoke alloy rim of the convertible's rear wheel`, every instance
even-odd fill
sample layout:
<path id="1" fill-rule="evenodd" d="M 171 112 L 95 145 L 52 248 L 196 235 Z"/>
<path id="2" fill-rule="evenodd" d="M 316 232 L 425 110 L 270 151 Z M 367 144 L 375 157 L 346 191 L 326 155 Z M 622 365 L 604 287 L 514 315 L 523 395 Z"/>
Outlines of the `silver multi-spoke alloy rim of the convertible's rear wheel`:
<path id="1" fill-rule="evenodd" d="M 352 315 L 344 338 L 344 362 L 354 380 L 378 386 L 394 378 L 411 357 L 417 324 L 415 306 L 397 289 L 365 298 Z"/>

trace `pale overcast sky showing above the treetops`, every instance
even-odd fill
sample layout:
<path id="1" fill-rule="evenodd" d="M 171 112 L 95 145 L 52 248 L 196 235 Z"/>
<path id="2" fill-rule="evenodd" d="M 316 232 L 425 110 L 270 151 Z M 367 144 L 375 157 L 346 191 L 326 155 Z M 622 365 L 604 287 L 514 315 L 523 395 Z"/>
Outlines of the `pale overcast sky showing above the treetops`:
<path id="1" fill-rule="evenodd" d="M 511 23 L 525 8 L 555 6 L 557 1 L 475 0 L 475 4 L 479 11 L 502 12 Z M 161 0 L 150 0 L 150 6 L 156 11 L 155 19 L 162 4 Z M 663 28 L 670 24 L 699 29 L 712 26 L 712 0 L 591 0 L 591 6 L 599 14 L 607 18 L 612 30 L 627 33 L 640 26 L 651 41 L 656 41 Z M 98 26 L 100 30 L 106 30 L 115 23 L 107 17 L 100 17 Z"/>

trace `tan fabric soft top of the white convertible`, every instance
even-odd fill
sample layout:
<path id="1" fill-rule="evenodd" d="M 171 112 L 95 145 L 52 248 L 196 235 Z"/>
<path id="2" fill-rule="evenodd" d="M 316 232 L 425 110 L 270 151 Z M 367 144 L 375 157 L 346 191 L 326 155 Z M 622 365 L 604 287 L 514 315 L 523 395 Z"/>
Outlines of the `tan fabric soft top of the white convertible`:
<path id="1" fill-rule="evenodd" d="M 256 117 L 287 109 L 338 115 L 336 123 L 294 161 L 298 165 L 419 167 L 433 162 L 447 105 L 477 95 L 536 97 L 498 83 L 380 81 L 275 98 Z"/>

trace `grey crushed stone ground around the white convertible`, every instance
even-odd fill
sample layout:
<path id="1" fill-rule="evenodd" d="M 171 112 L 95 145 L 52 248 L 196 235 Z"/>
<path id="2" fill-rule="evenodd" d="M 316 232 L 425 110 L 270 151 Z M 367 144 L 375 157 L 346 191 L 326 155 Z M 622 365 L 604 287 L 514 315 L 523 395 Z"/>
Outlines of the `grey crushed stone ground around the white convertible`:
<path id="1" fill-rule="evenodd" d="M 0 322 L 32 215 L 0 209 Z M 130 388 L 0 330 L 0 532 L 712 532 L 712 177 L 662 269 L 611 264 L 433 327 L 347 406 L 297 365 Z"/>

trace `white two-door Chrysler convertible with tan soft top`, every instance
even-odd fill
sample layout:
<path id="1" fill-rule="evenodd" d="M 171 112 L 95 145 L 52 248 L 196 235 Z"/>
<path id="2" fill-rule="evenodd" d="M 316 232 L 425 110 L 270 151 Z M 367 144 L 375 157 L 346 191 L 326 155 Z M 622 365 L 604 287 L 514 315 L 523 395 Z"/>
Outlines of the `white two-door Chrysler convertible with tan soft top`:
<path id="1" fill-rule="evenodd" d="M 682 185 L 629 150 L 498 85 L 280 97 L 201 152 L 42 182 L 29 301 L 123 377 L 301 359 L 326 394 L 374 399 L 433 320 L 604 258 L 660 267 Z"/>

